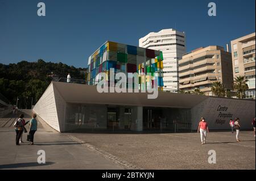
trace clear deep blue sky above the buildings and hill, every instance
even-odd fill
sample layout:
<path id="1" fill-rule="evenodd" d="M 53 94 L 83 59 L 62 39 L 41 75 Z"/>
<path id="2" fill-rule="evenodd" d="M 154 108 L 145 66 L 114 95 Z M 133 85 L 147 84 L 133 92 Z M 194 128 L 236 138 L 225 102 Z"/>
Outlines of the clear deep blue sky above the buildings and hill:
<path id="1" fill-rule="evenodd" d="M 37 15 L 39 2 L 46 16 Z M 217 16 L 208 16 L 215 2 Z M 255 0 L 0 0 L 0 62 L 61 61 L 85 68 L 106 40 L 138 45 L 151 31 L 176 28 L 187 52 L 255 32 Z"/>

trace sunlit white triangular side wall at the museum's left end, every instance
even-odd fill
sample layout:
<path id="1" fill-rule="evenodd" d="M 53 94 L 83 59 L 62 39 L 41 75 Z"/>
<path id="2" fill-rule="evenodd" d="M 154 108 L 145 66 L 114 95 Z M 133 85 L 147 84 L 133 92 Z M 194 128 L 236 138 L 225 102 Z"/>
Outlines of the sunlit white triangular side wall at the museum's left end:
<path id="1" fill-rule="evenodd" d="M 51 83 L 41 98 L 36 103 L 33 111 L 56 131 L 60 132 L 57 109 L 55 104 L 55 92 Z"/>

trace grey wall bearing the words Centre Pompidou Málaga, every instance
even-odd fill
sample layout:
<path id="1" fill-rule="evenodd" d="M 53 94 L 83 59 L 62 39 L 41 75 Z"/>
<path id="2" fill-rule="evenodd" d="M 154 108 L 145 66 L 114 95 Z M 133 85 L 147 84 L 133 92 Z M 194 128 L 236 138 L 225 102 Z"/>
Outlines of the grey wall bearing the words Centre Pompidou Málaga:
<path id="1" fill-rule="evenodd" d="M 218 110 L 221 106 L 222 110 Z M 191 109 L 192 129 L 196 130 L 200 117 L 205 117 L 209 129 L 230 129 L 229 120 L 240 118 L 241 129 L 251 129 L 255 117 L 255 101 L 212 98 L 204 100 Z"/>

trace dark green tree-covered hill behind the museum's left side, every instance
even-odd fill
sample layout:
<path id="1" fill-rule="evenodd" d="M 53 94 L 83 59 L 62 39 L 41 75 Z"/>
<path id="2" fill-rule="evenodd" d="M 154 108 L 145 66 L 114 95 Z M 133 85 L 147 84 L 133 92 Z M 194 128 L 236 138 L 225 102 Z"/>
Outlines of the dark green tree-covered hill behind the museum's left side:
<path id="1" fill-rule="evenodd" d="M 75 68 L 61 62 L 45 62 L 42 59 L 37 62 L 20 61 L 18 64 L 0 64 L 0 92 L 11 104 L 16 104 L 18 96 L 19 108 L 31 108 L 31 101 L 35 104 L 52 81 L 52 75 L 86 79 L 86 68 Z"/>

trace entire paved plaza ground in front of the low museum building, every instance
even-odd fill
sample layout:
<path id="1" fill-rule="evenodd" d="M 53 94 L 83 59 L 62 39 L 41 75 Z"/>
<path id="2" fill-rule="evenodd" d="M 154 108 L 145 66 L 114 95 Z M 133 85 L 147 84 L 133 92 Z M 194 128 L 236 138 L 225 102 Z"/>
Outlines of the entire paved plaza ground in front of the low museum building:
<path id="1" fill-rule="evenodd" d="M 0 119 L 0 169 L 255 169 L 252 131 L 241 132 L 242 142 L 235 133 L 210 132 L 201 145 L 199 133 L 58 133 L 40 121 L 35 145 L 16 146 L 13 121 Z M 46 164 L 37 163 L 38 150 Z M 209 150 L 216 164 L 208 163 Z"/>

